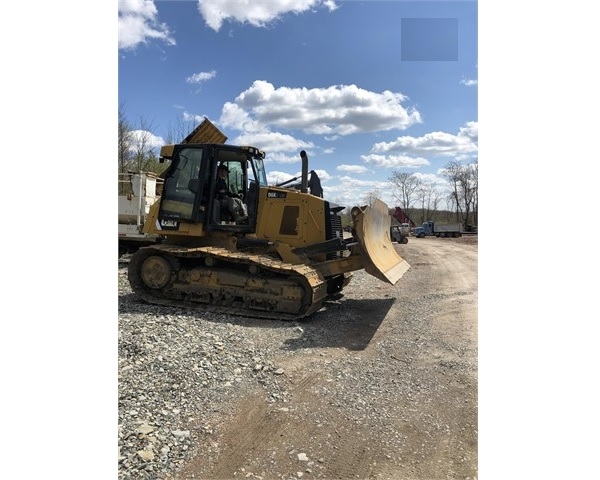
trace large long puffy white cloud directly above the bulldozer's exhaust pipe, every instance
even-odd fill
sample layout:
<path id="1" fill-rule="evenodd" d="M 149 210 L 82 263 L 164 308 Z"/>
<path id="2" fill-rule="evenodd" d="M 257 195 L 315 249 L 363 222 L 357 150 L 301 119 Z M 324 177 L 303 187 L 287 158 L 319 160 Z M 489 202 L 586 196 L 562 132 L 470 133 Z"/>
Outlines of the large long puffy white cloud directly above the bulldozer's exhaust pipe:
<path id="1" fill-rule="evenodd" d="M 302 130 L 316 135 L 351 135 L 362 132 L 404 130 L 421 123 L 414 108 L 406 108 L 402 93 L 382 93 L 356 85 L 326 88 L 275 88 L 255 81 L 233 103 L 223 107 L 221 122 L 229 128 L 265 130 L 269 127 Z"/>

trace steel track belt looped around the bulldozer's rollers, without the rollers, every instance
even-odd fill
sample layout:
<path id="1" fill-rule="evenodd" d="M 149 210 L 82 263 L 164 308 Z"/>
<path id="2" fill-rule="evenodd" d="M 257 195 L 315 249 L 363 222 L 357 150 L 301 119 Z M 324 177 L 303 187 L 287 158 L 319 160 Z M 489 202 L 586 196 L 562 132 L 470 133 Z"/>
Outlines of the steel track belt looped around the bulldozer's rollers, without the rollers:
<path id="1" fill-rule="evenodd" d="M 308 295 L 309 298 L 312 298 L 312 302 L 310 303 L 310 305 L 305 307 L 305 311 L 301 311 L 297 314 L 290 314 L 287 312 L 278 312 L 272 310 L 243 309 L 240 308 L 240 306 L 238 305 L 226 306 L 203 302 L 185 301 L 181 299 L 169 299 L 155 296 L 151 293 L 148 293 L 147 291 L 136 291 L 136 293 L 138 293 L 140 297 L 148 303 L 171 307 L 191 308 L 211 313 L 229 314 L 253 318 L 264 318 L 269 320 L 299 320 L 308 317 L 314 312 L 320 310 L 328 298 L 326 281 L 323 279 L 323 277 L 319 274 L 317 270 L 311 268 L 308 265 L 294 265 L 264 255 L 252 255 L 239 251 L 231 251 L 219 247 L 186 248 L 173 245 L 155 245 L 140 249 L 140 251 L 143 252 L 146 252 L 148 250 L 153 250 L 157 253 L 170 255 L 175 260 L 180 260 L 183 263 L 185 263 L 185 259 L 214 257 L 221 264 L 223 262 L 245 263 L 247 265 L 254 263 L 264 270 L 276 272 L 278 274 L 281 274 L 282 277 L 285 278 L 289 277 L 290 275 L 299 276 L 302 278 L 302 284 L 307 290 L 304 298 L 306 298 L 306 295 Z M 140 251 L 138 251 L 137 253 L 140 253 Z M 133 264 L 135 263 L 136 262 L 133 262 Z M 132 263 L 130 262 L 129 275 L 135 275 L 139 278 L 139 272 L 131 271 L 131 265 Z M 309 289 L 310 292 L 308 291 Z"/>

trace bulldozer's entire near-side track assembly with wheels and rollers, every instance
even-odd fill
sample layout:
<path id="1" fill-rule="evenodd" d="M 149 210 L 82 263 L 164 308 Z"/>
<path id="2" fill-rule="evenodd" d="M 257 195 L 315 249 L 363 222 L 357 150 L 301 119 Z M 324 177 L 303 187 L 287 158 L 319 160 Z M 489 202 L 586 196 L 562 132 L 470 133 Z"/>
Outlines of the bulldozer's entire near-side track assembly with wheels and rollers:
<path id="1" fill-rule="evenodd" d="M 128 277 L 149 303 L 275 320 L 307 317 L 343 286 L 309 266 L 265 255 L 171 245 L 138 250 Z"/>

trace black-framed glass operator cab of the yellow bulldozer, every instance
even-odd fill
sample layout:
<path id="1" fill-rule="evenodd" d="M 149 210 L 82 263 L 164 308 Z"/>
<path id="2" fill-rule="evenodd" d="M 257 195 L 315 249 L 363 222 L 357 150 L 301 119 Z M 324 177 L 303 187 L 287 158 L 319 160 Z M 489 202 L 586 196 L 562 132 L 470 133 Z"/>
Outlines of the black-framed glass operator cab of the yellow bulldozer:
<path id="1" fill-rule="evenodd" d="M 208 230 L 254 231 L 258 189 L 267 186 L 265 154 L 254 147 L 225 144 L 178 144 L 161 149 L 161 160 L 171 160 L 159 211 L 159 221 L 202 223 Z M 247 219 L 237 224 L 233 212 L 217 199 L 218 167 L 227 167 L 224 178 L 231 194 L 241 197 Z M 237 201 L 236 201 L 237 202 Z"/>

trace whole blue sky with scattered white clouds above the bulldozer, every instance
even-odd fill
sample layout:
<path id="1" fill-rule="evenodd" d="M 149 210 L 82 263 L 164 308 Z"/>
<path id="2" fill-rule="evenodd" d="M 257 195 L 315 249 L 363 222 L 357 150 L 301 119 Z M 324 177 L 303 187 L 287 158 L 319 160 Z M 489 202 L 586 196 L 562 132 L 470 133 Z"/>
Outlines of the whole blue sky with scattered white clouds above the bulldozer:
<path id="1" fill-rule="evenodd" d="M 397 205 L 393 171 L 443 189 L 442 167 L 477 160 L 475 1 L 118 5 L 119 103 L 157 146 L 206 116 L 267 152 L 270 183 L 306 150 L 344 206 L 373 192 Z"/>

